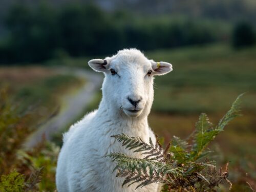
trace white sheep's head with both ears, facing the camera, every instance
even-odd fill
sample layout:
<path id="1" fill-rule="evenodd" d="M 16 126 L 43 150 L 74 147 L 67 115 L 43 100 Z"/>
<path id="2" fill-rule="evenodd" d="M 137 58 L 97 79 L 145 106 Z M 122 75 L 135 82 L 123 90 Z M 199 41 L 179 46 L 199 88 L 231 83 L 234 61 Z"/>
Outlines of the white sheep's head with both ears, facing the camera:
<path id="1" fill-rule="evenodd" d="M 90 60 L 89 65 L 105 74 L 102 92 L 109 108 L 130 117 L 150 113 L 154 76 L 172 71 L 170 63 L 148 60 L 136 49 L 119 51 L 105 60 Z"/>

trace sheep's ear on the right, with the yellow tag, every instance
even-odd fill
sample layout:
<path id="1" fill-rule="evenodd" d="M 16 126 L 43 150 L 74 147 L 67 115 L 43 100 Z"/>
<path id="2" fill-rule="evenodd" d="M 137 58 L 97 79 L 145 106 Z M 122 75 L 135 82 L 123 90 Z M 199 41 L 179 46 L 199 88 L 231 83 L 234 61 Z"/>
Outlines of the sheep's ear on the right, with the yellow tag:
<path id="1" fill-rule="evenodd" d="M 154 60 L 150 60 L 152 64 L 152 69 L 154 70 L 152 72 L 153 75 L 164 75 L 166 73 L 169 73 L 173 71 L 172 64 L 168 62 L 155 62 Z"/>

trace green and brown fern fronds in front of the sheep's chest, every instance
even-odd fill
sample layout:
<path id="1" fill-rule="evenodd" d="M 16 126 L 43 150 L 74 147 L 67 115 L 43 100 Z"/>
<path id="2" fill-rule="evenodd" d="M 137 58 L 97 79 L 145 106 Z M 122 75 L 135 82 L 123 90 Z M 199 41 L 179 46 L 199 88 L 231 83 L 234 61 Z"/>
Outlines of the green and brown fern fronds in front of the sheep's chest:
<path id="1" fill-rule="evenodd" d="M 143 187 L 150 183 L 163 183 L 163 191 L 216 191 L 216 187 L 228 177 L 228 163 L 225 170 L 217 170 L 214 162 L 202 160 L 209 151 L 206 147 L 210 141 L 223 131 L 225 125 L 239 115 L 240 95 L 232 104 L 231 109 L 214 126 L 206 114 L 201 114 L 192 134 L 191 142 L 174 137 L 165 150 L 158 139 L 156 144 L 150 138 L 147 144 L 140 138 L 127 135 L 112 136 L 128 150 L 141 153 L 144 159 L 128 157 L 125 154 L 111 153 L 108 155 L 117 163 L 117 176 L 125 177 L 123 185 L 137 183 Z"/>

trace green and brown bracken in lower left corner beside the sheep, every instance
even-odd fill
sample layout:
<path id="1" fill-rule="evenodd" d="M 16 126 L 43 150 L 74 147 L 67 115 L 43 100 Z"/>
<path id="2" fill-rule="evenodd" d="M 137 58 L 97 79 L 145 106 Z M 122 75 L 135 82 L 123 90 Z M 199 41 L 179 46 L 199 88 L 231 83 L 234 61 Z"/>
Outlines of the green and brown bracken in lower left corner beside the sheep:
<path id="1" fill-rule="evenodd" d="M 24 150 L 35 123 L 31 112 L 20 112 L 6 91 L 0 92 L 0 101 L 0 191 L 54 191 L 59 147 L 43 141 Z"/>

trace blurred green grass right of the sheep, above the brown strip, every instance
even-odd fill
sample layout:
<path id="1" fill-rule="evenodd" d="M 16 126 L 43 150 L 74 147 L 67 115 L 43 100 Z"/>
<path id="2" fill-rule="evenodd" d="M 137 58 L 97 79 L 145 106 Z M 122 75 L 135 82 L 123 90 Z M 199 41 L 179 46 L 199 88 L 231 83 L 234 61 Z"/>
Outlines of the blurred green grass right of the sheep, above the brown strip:
<path id="1" fill-rule="evenodd" d="M 155 60 L 171 62 L 174 68 L 170 74 L 156 78 L 153 110 L 181 114 L 219 112 L 243 92 L 248 92 L 246 110 L 256 109 L 255 52 L 255 47 L 236 51 L 214 45 L 146 53 Z"/>

